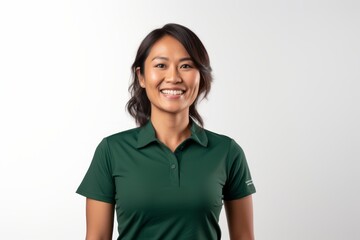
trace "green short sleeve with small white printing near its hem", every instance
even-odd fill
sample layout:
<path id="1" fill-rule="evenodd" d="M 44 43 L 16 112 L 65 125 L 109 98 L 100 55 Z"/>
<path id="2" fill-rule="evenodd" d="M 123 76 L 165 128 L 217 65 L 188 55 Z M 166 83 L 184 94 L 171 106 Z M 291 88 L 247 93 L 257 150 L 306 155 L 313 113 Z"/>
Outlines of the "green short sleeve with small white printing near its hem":
<path id="1" fill-rule="evenodd" d="M 239 199 L 256 192 L 244 151 L 231 140 L 228 154 L 227 181 L 223 189 L 224 200 Z"/>

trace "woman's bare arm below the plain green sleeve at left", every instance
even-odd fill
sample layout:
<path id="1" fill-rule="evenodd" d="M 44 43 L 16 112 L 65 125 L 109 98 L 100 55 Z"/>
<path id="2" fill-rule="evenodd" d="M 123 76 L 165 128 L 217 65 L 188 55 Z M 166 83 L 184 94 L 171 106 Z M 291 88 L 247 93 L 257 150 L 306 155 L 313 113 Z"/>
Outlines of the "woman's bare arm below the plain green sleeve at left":
<path id="1" fill-rule="evenodd" d="M 111 240 L 114 205 L 86 198 L 86 240 Z"/>

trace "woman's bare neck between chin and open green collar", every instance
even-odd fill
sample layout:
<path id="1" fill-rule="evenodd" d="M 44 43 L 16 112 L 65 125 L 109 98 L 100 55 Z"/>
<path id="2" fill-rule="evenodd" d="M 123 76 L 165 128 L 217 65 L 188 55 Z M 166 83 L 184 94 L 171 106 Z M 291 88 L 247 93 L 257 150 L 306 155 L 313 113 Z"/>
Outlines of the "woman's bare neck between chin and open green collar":
<path id="1" fill-rule="evenodd" d="M 191 135 L 189 114 L 152 114 L 150 119 L 156 137 L 173 152 Z"/>

